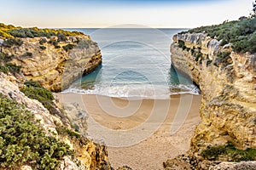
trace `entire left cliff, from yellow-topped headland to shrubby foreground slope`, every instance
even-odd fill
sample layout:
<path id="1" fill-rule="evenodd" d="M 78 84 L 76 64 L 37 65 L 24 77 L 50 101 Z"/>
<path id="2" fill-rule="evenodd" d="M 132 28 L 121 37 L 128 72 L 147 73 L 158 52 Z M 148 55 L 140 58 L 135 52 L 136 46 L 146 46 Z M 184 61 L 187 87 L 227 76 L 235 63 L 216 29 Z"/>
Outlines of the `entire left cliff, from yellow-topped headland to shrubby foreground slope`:
<path id="1" fill-rule="evenodd" d="M 0 24 L 0 50 L 0 168 L 112 169 L 107 147 L 84 136 L 86 111 L 49 91 L 102 62 L 96 42 L 78 32 Z"/>

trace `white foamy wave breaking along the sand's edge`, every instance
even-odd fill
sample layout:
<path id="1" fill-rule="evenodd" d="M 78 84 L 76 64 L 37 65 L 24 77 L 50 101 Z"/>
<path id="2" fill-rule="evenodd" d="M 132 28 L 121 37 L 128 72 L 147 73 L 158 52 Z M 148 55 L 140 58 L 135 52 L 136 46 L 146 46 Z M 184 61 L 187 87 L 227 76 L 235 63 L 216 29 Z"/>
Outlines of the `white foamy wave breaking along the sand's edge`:
<path id="1" fill-rule="evenodd" d="M 174 94 L 200 94 L 200 89 L 195 85 L 163 86 L 163 85 L 123 85 L 123 86 L 95 86 L 90 89 L 84 88 L 67 88 L 61 93 L 73 94 L 97 94 L 109 97 L 126 98 L 126 99 L 169 99 Z"/>

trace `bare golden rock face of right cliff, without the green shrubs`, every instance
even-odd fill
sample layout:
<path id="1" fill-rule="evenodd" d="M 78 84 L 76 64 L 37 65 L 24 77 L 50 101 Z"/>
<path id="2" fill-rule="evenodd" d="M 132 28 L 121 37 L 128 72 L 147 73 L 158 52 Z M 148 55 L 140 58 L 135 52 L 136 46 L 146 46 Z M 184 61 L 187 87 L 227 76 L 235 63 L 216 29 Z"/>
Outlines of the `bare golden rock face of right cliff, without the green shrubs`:
<path id="1" fill-rule="evenodd" d="M 172 65 L 201 88 L 201 123 L 191 149 L 226 141 L 256 148 L 256 54 L 236 54 L 202 33 L 178 34 L 173 40 Z"/>

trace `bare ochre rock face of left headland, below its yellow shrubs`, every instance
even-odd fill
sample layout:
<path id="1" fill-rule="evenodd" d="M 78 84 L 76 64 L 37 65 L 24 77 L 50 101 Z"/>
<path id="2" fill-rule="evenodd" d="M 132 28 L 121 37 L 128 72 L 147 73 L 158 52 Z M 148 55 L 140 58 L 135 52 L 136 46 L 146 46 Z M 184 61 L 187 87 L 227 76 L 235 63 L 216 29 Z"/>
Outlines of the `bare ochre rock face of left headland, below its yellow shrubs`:
<path id="1" fill-rule="evenodd" d="M 100 49 L 90 37 L 66 38 L 60 42 L 58 37 L 20 38 L 23 42 L 20 46 L 2 45 L 1 52 L 13 55 L 10 62 L 21 65 L 28 80 L 60 92 L 102 63 Z"/>

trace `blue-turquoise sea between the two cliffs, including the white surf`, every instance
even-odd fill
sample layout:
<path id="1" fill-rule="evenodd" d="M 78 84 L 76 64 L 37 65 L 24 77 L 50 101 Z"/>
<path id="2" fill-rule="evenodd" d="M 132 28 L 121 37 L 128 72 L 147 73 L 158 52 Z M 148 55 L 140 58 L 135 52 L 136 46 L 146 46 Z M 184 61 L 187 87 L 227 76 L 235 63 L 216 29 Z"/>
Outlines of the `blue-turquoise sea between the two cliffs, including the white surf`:
<path id="1" fill-rule="evenodd" d="M 102 65 L 65 92 L 113 97 L 166 99 L 198 94 L 192 81 L 171 67 L 172 36 L 183 29 L 107 28 L 82 31 L 97 42 Z"/>

